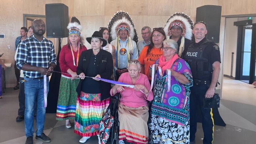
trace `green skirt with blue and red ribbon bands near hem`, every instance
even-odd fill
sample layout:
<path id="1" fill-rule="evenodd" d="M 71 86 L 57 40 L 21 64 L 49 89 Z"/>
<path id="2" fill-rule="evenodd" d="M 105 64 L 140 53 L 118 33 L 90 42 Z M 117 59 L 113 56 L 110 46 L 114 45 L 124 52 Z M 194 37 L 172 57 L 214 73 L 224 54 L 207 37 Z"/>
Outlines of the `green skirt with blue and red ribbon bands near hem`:
<path id="1" fill-rule="evenodd" d="M 56 120 L 75 119 L 76 87 L 80 79 L 71 80 L 61 76 Z"/>

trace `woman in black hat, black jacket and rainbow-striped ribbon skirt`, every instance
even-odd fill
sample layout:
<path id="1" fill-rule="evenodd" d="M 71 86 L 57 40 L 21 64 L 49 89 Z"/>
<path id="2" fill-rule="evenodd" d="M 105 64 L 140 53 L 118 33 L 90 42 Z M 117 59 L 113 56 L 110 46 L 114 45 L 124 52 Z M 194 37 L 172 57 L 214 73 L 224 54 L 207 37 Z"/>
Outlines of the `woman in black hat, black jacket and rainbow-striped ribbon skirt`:
<path id="1" fill-rule="evenodd" d="M 95 31 L 86 40 L 91 44 L 92 49 L 82 52 L 76 71 L 80 82 L 76 89 L 78 97 L 75 134 L 83 136 L 79 140 L 80 143 L 85 143 L 91 136 L 98 135 L 99 121 L 110 103 L 111 85 L 97 78 L 110 79 L 113 73 L 112 55 L 101 49 L 107 44 L 102 38 L 102 33 Z"/>

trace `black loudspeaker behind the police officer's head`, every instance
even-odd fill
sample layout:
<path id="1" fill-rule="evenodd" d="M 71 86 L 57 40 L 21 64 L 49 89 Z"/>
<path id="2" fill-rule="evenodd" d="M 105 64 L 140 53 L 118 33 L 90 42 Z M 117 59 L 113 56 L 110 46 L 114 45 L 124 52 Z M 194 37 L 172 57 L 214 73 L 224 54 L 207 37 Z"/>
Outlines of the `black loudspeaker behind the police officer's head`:
<path id="1" fill-rule="evenodd" d="M 204 21 L 207 27 L 207 39 L 219 43 L 221 6 L 205 5 L 198 7 L 196 21 Z"/>

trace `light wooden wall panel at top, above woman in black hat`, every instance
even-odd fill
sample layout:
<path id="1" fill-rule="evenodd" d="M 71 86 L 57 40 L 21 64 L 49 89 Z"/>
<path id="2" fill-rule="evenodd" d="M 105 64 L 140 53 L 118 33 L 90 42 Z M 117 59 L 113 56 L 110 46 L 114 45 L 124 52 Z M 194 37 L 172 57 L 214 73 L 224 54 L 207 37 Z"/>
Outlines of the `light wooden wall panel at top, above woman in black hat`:
<path id="1" fill-rule="evenodd" d="M 75 0 L 75 16 L 104 15 L 104 0 Z"/>

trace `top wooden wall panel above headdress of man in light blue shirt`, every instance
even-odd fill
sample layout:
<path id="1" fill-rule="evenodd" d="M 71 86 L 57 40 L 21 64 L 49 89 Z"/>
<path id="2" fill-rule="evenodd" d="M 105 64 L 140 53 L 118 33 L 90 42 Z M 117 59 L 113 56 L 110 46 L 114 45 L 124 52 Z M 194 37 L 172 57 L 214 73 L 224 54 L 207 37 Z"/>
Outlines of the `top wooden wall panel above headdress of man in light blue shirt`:
<path id="1" fill-rule="evenodd" d="M 148 0 L 105 0 L 105 15 L 124 10 L 130 15 L 148 15 Z"/>

